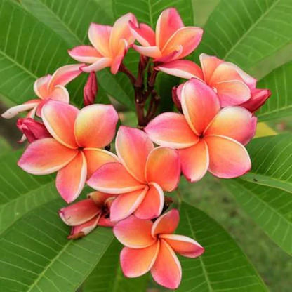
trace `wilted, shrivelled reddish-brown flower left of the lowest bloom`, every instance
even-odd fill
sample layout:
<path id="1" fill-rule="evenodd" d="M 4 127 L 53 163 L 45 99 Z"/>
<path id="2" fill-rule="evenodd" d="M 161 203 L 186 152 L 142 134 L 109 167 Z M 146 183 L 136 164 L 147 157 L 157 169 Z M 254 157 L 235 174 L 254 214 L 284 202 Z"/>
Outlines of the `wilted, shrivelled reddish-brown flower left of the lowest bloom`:
<path id="1" fill-rule="evenodd" d="M 60 218 L 65 224 L 72 226 L 68 239 L 84 237 L 97 226 L 114 226 L 114 223 L 109 219 L 109 215 L 110 206 L 116 196 L 102 192 L 91 192 L 88 194 L 88 199 L 61 208 L 59 211 Z"/>

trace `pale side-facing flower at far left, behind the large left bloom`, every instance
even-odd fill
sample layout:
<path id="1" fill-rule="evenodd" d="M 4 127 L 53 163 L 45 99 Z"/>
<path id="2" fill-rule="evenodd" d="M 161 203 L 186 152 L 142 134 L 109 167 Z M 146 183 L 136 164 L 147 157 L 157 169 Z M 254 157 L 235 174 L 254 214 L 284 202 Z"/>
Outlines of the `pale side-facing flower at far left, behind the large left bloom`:
<path id="1" fill-rule="evenodd" d="M 20 112 L 29 111 L 27 117 L 33 118 L 35 114 L 41 117 L 41 108 L 48 100 L 69 102 L 69 93 L 65 85 L 81 74 L 82 64 L 66 65 L 58 68 L 53 75 L 46 75 L 34 82 L 34 93 L 38 99 L 29 100 L 22 105 L 16 105 L 6 110 L 2 117 L 11 119 Z"/>

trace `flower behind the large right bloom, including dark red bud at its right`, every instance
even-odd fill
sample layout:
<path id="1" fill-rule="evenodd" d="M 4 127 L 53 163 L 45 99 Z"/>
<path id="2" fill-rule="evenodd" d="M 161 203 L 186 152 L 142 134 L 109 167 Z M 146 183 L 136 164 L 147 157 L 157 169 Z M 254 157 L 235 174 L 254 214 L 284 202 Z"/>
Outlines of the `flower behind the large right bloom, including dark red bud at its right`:
<path id="1" fill-rule="evenodd" d="M 218 94 L 221 107 L 241 105 L 255 112 L 270 97 L 267 89 L 258 89 L 256 79 L 237 65 L 206 54 L 200 55 L 201 68 L 190 60 L 177 60 L 157 66 L 162 72 L 181 78 L 204 80 Z"/>

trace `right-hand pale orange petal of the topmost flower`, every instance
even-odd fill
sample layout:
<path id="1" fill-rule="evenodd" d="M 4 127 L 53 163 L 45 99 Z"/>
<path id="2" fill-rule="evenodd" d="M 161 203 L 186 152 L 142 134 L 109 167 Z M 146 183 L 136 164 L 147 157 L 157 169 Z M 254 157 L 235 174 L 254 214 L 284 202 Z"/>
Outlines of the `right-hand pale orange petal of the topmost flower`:
<path id="1" fill-rule="evenodd" d="M 183 46 L 183 51 L 180 53 L 180 59 L 182 59 L 197 48 L 202 35 L 203 29 L 200 27 L 181 27 L 168 39 L 161 53 L 167 55 L 175 51 L 178 46 Z"/>

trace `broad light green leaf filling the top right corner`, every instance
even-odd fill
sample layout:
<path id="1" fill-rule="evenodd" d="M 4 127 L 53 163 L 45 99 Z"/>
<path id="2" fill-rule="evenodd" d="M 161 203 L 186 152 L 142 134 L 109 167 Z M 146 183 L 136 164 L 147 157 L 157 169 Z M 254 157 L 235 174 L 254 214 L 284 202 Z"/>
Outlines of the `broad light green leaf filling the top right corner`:
<path id="1" fill-rule="evenodd" d="M 291 43 L 291 13 L 291 0 L 221 0 L 197 52 L 248 69 Z"/>

